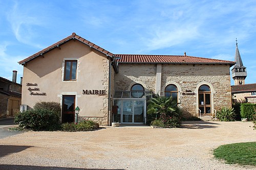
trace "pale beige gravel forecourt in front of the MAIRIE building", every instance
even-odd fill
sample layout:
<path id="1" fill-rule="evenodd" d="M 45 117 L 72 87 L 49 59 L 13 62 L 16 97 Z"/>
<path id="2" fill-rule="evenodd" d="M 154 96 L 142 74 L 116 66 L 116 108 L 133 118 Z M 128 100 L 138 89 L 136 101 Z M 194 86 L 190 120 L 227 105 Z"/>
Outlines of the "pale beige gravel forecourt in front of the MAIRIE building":
<path id="1" fill-rule="evenodd" d="M 105 127 L 24 132 L 0 139 L 0 169 L 256 169 L 222 163 L 219 145 L 256 141 L 250 122 L 184 122 L 183 128 Z"/>

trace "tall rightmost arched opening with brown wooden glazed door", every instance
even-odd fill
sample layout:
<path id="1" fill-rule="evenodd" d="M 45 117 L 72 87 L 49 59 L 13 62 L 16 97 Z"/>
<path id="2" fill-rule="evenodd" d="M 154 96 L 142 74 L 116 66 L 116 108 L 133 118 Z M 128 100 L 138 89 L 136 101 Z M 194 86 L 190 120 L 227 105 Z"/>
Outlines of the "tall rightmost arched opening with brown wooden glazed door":
<path id="1" fill-rule="evenodd" d="M 199 109 L 202 114 L 211 113 L 211 90 L 207 85 L 202 85 L 198 89 Z"/>

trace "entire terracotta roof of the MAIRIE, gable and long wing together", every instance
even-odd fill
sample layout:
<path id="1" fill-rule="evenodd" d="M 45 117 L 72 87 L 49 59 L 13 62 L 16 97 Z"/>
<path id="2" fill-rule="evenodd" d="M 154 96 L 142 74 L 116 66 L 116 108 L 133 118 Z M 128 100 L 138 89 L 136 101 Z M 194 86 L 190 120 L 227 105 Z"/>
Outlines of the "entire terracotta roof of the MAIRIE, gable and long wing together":
<path id="1" fill-rule="evenodd" d="M 180 63 L 180 64 L 228 64 L 230 66 L 236 64 L 236 62 L 233 61 L 226 61 L 226 60 L 216 60 L 216 59 L 209 59 L 209 58 L 201 58 L 201 57 L 192 57 L 192 56 L 170 56 L 170 55 L 132 55 L 132 54 L 116 54 L 104 50 L 100 46 L 76 35 L 76 33 L 72 33 L 72 35 L 68 36 L 67 38 L 64 38 L 44 50 L 41 50 L 32 56 L 29 56 L 28 58 L 19 61 L 19 64 L 25 64 L 26 62 L 29 62 L 30 60 L 33 60 L 37 58 L 38 56 L 44 55 L 45 53 L 53 50 L 56 47 L 59 47 L 59 45 L 66 43 L 67 41 L 71 39 L 77 39 L 84 44 L 89 45 L 90 47 L 94 48 L 95 50 L 104 53 L 107 56 L 111 57 L 120 57 L 117 61 L 120 63 Z"/>

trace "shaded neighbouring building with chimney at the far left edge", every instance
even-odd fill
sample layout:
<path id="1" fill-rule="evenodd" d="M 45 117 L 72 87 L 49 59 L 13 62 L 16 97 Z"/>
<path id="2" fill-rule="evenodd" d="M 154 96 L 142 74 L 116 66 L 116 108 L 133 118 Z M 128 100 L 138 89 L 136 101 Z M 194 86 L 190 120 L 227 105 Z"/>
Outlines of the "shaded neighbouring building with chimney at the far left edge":
<path id="1" fill-rule="evenodd" d="M 0 117 L 13 116 L 22 103 L 22 85 L 16 83 L 17 71 L 13 70 L 12 81 L 0 77 Z"/>

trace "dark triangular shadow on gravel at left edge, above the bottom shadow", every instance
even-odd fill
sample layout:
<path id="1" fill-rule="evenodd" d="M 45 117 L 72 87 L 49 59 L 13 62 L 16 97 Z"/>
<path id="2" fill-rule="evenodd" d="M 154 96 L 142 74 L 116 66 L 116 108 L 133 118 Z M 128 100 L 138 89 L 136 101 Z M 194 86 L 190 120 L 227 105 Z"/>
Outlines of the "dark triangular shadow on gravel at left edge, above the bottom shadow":
<path id="1" fill-rule="evenodd" d="M 18 153 L 31 147 L 33 146 L 0 145 L 0 157 L 4 157 L 12 153 Z"/>

